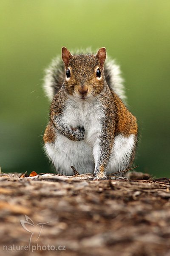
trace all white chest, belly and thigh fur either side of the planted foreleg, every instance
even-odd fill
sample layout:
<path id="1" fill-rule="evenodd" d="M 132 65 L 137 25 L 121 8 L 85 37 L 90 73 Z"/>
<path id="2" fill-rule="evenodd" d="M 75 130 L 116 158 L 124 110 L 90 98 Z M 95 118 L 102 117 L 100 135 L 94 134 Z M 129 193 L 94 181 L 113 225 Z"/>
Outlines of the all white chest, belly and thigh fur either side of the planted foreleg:
<path id="1" fill-rule="evenodd" d="M 45 150 L 60 174 L 74 175 L 71 166 L 80 173 L 93 173 L 98 150 L 93 147 L 101 134 L 102 112 L 99 102 L 73 102 L 68 100 L 62 119 L 69 127 L 84 127 L 85 139 L 72 141 L 57 133 L 55 143 L 46 143 Z M 135 136 L 119 134 L 114 138 L 107 173 L 124 170 L 130 161 L 135 145 Z"/>

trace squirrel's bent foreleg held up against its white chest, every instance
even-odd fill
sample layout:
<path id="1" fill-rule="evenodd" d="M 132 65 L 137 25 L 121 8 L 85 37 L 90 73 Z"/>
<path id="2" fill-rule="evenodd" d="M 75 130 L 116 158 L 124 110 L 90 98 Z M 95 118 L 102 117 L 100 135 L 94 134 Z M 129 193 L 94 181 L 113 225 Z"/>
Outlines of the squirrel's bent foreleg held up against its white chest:
<path id="1" fill-rule="evenodd" d="M 60 116 L 55 116 L 53 119 L 54 126 L 57 131 L 67 137 L 69 140 L 79 141 L 84 140 L 85 130 L 83 127 L 77 127 L 75 129 L 68 127 Z"/>

